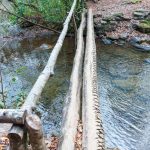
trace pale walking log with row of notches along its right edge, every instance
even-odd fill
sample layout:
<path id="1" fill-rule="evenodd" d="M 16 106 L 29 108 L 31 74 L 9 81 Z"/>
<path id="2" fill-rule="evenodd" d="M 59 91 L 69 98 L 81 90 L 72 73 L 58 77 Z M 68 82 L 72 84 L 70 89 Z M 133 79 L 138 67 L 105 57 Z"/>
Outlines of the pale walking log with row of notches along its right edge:
<path id="1" fill-rule="evenodd" d="M 82 97 L 83 149 L 104 150 L 104 132 L 99 111 L 96 45 L 92 9 L 88 10 Z"/>

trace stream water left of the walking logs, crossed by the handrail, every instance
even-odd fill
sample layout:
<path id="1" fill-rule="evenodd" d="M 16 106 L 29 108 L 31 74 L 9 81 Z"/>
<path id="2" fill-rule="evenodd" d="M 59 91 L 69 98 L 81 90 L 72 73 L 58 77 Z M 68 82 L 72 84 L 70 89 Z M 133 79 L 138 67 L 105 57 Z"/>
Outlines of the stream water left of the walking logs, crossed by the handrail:
<path id="1" fill-rule="evenodd" d="M 21 41 L 12 40 L 0 50 L 8 108 L 15 108 L 18 101 L 29 93 L 46 65 L 57 38 L 49 35 Z M 72 38 L 66 38 L 57 60 L 55 75 L 49 79 L 38 102 L 45 136 L 60 132 L 63 100 L 69 86 L 73 63 L 73 42 Z M 4 43 L 1 42 L 1 46 Z"/>

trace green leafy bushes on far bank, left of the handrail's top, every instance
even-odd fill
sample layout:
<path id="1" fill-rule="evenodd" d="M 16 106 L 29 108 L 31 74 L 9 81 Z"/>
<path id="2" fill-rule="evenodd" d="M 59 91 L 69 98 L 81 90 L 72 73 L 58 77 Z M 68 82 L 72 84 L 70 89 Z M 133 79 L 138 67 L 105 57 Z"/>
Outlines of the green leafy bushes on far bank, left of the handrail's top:
<path id="1" fill-rule="evenodd" d="M 62 23 L 73 0 L 15 0 L 15 11 L 19 16 L 41 16 L 47 22 Z M 11 18 L 17 21 L 17 18 Z"/>

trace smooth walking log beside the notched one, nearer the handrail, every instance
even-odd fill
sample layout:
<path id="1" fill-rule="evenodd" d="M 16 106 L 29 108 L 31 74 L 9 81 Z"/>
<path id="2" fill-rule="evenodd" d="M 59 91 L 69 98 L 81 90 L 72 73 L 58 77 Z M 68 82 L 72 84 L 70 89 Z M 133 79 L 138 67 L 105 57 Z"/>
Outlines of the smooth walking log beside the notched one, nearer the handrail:
<path id="1" fill-rule="evenodd" d="M 78 30 L 77 50 L 70 79 L 70 87 L 65 99 L 62 121 L 62 137 L 59 143 L 59 150 L 73 150 L 75 145 L 81 101 L 82 65 L 84 54 L 83 31 L 85 23 L 86 19 L 84 12 L 82 14 L 82 21 Z"/>

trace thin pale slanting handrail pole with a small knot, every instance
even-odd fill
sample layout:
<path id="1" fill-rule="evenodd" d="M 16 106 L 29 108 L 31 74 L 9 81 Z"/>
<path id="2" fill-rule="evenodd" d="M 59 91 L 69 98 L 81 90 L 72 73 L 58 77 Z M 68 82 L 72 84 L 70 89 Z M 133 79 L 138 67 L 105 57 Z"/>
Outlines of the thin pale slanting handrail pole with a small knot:
<path id="1" fill-rule="evenodd" d="M 38 77 L 37 81 L 35 82 L 33 88 L 31 89 L 29 95 L 27 96 L 27 98 L 25 100 L 25 103 L 21 107 L 22 109 L 27 110 L 27 112 L 29 114 L 32 113 L 32 110 L 36 107 L 36 102 L 39 100 L 41 93 L 42 93 L 49 77 L 54 75 L 54 67 L 56 64 L 56 60 L 57 60 L 58 54 L 62 48 L 65 36 L 67 34 L 69 23 L 70 23 L 70 20 L 72 18 L 72 15 L 74 13 L 76 3 L 77 3 L 77 0 L 74 0 L 72 7 L 71 7 L 71 10 L 70 10 L 70 12 L 69 12 L 69 14 L 65 20 L 63 30 L 62 30 L 59 38 L 58 38 L 58 41 L 57 41 L 54 49 L 52 50 L 50 57 L 49 57 L 48 63 L 45 66 L 42 73 L 40 74 L 40 76 Z M 17 128 L 17 126 L 14 125 L 11 128 L 10 132 L 15 130 L 14 128 Z M 23 129 L 22 129 L 22 134 L 23 134 Z M 18 133 L 18 136 L 19 136 L 19 133 Z M 16 149 L 12 149 L 12 150 L 18 150 L 18 149 L 16 148 Z"/>

